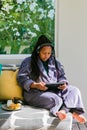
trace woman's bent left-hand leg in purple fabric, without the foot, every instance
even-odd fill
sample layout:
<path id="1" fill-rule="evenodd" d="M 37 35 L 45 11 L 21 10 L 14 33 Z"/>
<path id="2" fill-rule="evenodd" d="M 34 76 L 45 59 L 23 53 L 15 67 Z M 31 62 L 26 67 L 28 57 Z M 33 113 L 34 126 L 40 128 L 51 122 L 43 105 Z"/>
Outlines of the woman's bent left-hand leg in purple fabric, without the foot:
<path id="1" fill-rule="evenodd" d="M 55 116 L 58 116 L 57 112 L 63 104 L 62 99 L 53 92 L 26 92 L 24 97 L 28 104 L 48 109 Z"/>

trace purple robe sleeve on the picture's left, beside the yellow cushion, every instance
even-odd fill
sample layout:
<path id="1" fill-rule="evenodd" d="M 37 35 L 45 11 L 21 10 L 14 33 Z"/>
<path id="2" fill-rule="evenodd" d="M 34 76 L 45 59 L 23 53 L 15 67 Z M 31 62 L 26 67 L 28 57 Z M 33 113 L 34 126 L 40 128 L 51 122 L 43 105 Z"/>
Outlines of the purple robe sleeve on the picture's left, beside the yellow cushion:
<path id="1" fill-rule="evenodd" d="M 24 59 L 17 74 L 19 85 L 27 92 L 30 90 L 30 85 L 34 82 L 30 79 L 30 61 L 31 57 Z"/>

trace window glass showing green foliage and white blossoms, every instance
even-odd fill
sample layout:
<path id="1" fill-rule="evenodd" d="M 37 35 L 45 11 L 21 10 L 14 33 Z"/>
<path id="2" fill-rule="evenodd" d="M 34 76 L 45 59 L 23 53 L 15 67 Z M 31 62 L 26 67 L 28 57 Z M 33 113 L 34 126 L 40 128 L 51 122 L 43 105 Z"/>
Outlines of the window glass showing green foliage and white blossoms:
<path id="1" fill-rule="evenodd" d="M 54 41 L 55 0 L 0 0 L 0 54 L 30 54 L 37 38 Z"/>

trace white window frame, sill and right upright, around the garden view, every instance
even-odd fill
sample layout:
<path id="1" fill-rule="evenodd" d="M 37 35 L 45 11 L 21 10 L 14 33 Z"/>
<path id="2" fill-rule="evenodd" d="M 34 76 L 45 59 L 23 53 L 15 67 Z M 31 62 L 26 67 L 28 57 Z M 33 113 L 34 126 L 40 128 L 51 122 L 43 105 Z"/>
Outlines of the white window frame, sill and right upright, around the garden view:
<path id="1" fill-rule="evenodd" d="M 58 57 L 58 7 L 59 1 L 55 0 L 55 54 Z M 0 54 L 0 64 L 20 64 L 30 54 Z"/>

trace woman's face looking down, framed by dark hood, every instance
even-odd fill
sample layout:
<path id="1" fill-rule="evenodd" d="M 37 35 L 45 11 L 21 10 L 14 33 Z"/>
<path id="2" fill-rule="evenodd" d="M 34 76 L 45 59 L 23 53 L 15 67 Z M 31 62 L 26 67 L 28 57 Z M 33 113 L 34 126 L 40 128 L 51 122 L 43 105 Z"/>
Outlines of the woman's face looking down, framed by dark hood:
<path id="1" fill-rule="evenodd" d="M 51 46 L 44 46 L 40 49 L 39 57 L 42 61 L 47 61 L 52 54 L 52 47 Z"/>

